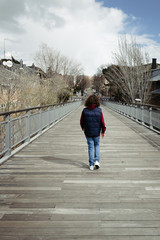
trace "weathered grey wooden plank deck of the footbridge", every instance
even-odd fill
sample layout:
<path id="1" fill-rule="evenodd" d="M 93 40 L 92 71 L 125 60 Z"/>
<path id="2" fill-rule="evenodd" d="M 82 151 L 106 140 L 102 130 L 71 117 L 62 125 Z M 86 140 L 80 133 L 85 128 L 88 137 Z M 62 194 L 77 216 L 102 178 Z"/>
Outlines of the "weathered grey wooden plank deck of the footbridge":
<path id="1" fill-rule="evenodd" d="M 103 108 L 88 169 L 82 107 L 0 166 L 1 240 L 159 240 L 160 137 Z"/>

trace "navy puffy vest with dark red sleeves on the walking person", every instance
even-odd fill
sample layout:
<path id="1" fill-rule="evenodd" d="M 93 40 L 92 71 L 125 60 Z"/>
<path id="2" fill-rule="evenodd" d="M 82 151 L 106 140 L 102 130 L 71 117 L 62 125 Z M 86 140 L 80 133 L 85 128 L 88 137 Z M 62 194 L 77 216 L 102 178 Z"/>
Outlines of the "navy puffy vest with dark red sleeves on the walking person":
<path id="1" fill-rule="evenodd" d="M 100 132 L 105 133 L 106 127 L 101 108 L 95 104 L 84 108 L 81 114 L 80 125 L 86 137 L 98 137 Z"/>

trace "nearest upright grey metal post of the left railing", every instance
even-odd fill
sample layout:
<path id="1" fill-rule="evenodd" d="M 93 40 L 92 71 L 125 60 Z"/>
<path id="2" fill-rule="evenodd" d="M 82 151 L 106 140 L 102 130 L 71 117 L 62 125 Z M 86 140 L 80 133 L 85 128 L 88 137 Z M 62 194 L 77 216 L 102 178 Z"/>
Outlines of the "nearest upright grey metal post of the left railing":
<path id="1" fill-rule="evenodd" d="M 11 119 L 10 114 L 6 116 L 6 155 L 11 154 Z"/>

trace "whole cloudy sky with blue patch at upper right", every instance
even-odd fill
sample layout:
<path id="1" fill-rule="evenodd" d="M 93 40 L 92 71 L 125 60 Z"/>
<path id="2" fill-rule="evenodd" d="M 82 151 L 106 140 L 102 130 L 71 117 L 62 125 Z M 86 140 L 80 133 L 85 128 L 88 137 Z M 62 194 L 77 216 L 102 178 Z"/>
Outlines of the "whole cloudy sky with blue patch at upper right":
<path id="1" fill-rule="evenodd" d="M 31 65 L 42 43 L 80 63 L 85 75 L 113 63 L 122 35 L 160 62 L 159 0 L 0 0 L 0 58 Z"/>

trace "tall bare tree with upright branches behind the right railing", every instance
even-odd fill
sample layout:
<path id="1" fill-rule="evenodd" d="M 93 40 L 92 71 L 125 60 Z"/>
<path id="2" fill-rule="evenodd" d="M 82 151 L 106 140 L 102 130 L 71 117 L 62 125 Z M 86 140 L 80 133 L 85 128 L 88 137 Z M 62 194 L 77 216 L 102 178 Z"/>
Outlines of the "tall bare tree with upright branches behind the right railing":
<path id="1" fill-rule="evenodd" d="M 149 57 L 135 39 L 128 41 L 126 37 L 119 39 L 119 52 L 114 54 L 116 64 L 103 69 L 106 79 L 114 84 L 122 93 L 127 103 L 147 103 L 151 89 L 151 65 Z"/>

